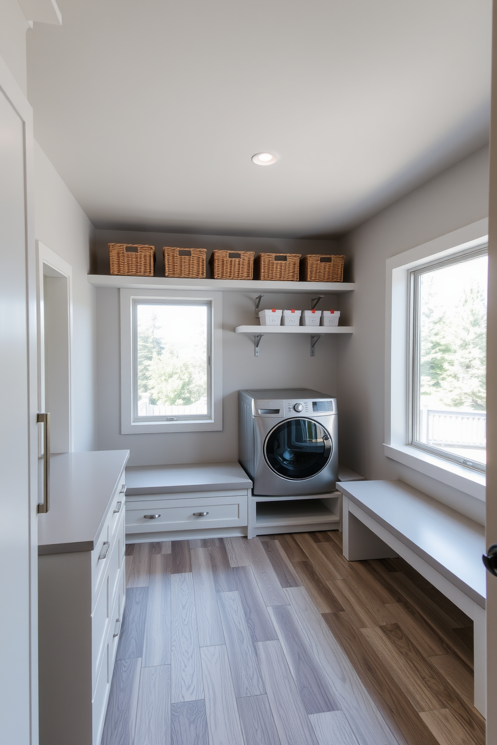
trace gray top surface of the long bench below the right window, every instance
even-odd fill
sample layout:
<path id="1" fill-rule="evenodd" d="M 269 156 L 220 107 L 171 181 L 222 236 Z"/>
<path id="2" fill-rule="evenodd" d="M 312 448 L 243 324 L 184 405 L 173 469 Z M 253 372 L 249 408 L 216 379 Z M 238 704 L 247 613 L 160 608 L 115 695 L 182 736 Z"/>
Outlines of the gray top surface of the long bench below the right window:
<path id="1" fill-rule="evenodd" d="M 349 481 L 337 489 L 484 607 L 482 525 L 403 481 Z"/>

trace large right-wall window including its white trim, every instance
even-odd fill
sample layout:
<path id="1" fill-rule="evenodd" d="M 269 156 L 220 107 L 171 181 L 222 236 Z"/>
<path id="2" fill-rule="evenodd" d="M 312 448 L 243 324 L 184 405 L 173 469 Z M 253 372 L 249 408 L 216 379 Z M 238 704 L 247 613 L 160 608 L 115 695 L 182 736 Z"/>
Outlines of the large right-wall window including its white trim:
<path id="1" fill-rule="evenodd" d="M 480 300 L 464 300 L 477 285 L 484 300 L 487 233 L 488 220 L 479 220 L 392 256 L 385 267 L 384 454 L 480 501 L 485 329 Z M 450 493 L 459 509 L 460 496 Z"/>

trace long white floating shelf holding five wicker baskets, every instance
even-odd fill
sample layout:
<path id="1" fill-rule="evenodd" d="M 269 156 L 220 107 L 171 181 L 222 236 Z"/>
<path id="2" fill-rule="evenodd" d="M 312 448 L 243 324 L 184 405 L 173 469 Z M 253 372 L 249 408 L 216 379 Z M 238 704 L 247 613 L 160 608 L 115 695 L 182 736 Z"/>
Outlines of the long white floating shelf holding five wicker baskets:
<path id="1" fill-rule="evenodd" d="M 336 295 L 352 292 L 353 282 L 261 282 L 257 279 L 174 279 L 173 277 L 129 277 L 115 274 L 89 274 L 93 287 L 127 288 L 129 290 L 217 290 L 287 294 L 321 293 Z"/>

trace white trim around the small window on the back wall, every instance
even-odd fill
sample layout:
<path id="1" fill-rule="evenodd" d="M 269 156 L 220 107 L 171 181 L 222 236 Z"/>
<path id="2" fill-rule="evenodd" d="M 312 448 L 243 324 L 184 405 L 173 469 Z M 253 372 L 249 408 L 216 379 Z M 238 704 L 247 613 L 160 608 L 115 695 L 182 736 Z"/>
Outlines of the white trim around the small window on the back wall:
<path id="1" fill-rule="evenodd" d="M 221 292 L 127 290 L 121 288 L 121 434 L 205 432 L 223 428 L 223 296 Z M 212 302 L 212 416 L 181 422 L 133 422 L 133 300 Z"/>

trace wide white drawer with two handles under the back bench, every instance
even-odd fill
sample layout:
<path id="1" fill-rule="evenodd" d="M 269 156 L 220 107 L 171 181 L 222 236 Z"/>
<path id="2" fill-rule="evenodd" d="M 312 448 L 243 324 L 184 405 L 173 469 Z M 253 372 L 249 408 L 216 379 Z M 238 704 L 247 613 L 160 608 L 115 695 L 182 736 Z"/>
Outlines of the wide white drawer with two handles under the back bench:
<path id="1" fill-rule="evenodd" d="M 194 498 L 127 501 L 126 532 L 194 530 L 202 527 L 233 527 L 247 524 L 247 493 L 206 495 Z"/>

